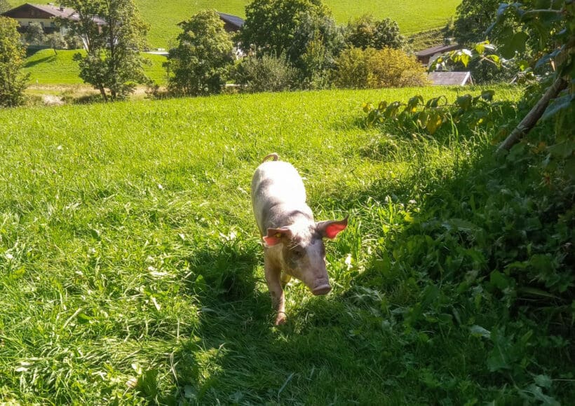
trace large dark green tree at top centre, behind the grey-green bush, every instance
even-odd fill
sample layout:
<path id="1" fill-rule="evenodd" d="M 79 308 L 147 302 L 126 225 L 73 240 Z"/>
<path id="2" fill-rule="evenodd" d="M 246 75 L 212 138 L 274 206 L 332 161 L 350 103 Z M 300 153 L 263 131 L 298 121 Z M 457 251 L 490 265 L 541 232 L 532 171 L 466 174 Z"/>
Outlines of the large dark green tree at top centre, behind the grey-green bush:
<path id="1" fill-rule="evenodd" d="M 286 55 L 297 64 L 307 41 L 315 36 L 318 20 L 328 15 L 321 0 L 254 0 L 245 7 L 239 39 L 244 50 L 253 45 L 262 54 Z"/>

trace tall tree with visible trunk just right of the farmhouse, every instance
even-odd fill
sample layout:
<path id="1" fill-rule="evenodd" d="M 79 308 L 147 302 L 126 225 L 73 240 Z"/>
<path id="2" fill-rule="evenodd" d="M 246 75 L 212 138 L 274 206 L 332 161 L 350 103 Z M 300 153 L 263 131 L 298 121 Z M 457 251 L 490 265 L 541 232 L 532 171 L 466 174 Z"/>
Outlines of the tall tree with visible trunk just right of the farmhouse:
<path id="1" fill-rule="evenodd" d="M 149 83 L 144 74 L 147 60 L 140 55 L 146 46 L 148 26 L 135 0 L 65 0 L 79 20 L 62 20 L 81 36 L 86 55 L 77 53 L 80 77 L 100 90 L 104 101 L 124 99 L 137 83 Z"/>

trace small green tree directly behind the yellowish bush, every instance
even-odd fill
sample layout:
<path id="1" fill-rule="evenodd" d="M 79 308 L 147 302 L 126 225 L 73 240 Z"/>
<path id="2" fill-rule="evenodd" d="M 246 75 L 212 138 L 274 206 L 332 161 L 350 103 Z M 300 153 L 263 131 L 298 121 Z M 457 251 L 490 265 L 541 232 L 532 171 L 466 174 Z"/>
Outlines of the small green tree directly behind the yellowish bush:
<path id="1" fill-rule="evenodd" d="M 403 48 L 405 37 L 400 34 L 398 23 L 386 18 L 375 20 L 363 15 L 347 26 L 347 42 L 356 48 Z"/>

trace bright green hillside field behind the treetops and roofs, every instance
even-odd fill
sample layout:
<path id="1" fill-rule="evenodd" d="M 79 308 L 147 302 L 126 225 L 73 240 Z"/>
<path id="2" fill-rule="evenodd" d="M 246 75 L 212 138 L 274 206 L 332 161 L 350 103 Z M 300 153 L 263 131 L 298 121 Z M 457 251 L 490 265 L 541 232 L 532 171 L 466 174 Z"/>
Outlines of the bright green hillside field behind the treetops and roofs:
<path id="1" fill-rule="evenodd" d="M 24 3 L 11 0 L 13 6 Z M 41 1 L 39 1 L 41 3 Z M 155 1 L 137 0 L 144 20 L 151 26 L 149 44 L 153 48 L 166 48 L 175 39 L 179 29 L 177 23 L 187 20 L 203 8 L 215 8 L 222 13 L 244 17 L 248 0 L 182 0 Z M 371 13 L 377 18 L 391 18 L 398 22 L 405 35 L 425 29 L 440 27 L 451 17 L 461 0 L 325 0 L 334 18 L 345 23 L 350 18 Z"/>

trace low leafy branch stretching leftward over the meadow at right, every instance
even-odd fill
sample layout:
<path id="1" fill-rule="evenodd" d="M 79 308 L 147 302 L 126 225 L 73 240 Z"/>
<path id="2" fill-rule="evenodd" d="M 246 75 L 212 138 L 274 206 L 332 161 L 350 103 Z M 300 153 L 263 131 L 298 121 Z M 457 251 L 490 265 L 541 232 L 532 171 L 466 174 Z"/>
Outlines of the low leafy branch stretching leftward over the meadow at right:
<path id="1" fill-rule="evenodd" d="M 449 104 L 446 97 L 440 96 L 425 102 L 421 96 L 412 97 L 407 103 L 379 102 L 365 104 L 367 125 L 393 125 L 402 132 L 426 132 L 435 134 L 438 130 L 454 130 L 459 134 L 475 131 L 479 126 L 492 129 L 509 116 L 515 106 L 493 102 L 494 91 L 484 90 L 478 96 L 464 94 Z"/>

